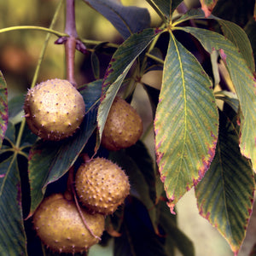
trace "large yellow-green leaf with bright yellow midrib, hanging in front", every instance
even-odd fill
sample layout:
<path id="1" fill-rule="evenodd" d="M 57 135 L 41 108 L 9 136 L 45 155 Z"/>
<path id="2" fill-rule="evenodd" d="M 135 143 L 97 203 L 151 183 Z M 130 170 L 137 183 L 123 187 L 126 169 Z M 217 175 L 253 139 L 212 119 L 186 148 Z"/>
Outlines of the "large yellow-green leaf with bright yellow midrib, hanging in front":
<path id="1" fill-rule="evenodd" d="M 178 199 L 210 166 L 218 137 L 218 111 L 207 74 L 172 33 L 154 131 L 160 177 L 173 212 Z"/>

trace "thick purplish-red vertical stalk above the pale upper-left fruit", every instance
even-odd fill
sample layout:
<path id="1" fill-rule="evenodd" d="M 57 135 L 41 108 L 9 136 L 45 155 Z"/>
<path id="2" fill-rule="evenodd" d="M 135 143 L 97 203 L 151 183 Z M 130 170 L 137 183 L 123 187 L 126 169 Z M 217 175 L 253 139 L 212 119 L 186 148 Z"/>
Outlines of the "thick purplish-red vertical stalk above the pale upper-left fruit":
<path id="1" fill-rule="evenodd" d="M 67 33 L 67 41 L 65 43 L 66 54 L 66 73 L 67 80 L 77 87 L 77 83 L 74 79 L 74 59 L 76 50 L 76 40 L 78 38 L 78 32 L 75 23 L 75 3 L 74 0 L 67 0 L 66 2 L 66 25 L 65 33 Z"/>

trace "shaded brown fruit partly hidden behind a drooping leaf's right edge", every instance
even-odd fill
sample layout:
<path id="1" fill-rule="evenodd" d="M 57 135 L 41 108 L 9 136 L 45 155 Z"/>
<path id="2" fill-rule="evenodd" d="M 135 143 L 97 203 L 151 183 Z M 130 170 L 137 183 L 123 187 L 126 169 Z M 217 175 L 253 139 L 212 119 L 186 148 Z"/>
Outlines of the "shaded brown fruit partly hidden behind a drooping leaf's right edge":
<path id="1" fill-rule="evenodd" d="M 137 143 L 142 133 L 143 121 L 137 111 L 116 96 L 102 132 L 102 146 L 113 151 L 128 148 Z"/>

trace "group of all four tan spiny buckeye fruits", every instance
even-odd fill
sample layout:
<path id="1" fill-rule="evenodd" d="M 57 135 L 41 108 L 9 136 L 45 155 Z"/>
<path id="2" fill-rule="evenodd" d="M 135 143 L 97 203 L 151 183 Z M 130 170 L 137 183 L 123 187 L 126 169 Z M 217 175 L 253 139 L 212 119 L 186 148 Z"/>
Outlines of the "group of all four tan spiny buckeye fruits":
<path id="1" fill-rule="evenodd" d="M 28 90 L 24 104 L 26 123 L 45 140 L 71 137 L 79 129 L 84 99 L 67 80 L 51 79 Z M 113 101 L 102 133 L 102 146 L 119 150 L 136 143 L 143 132 L 142 119 L 120 97 Z M 125 201 L 130 183 L 112 161 L 97 157 L 79 166 L 74 177 L 75 198 L 49 195 L 33 215 L 38 236 L 53 251 L 87 251 L 102 236 L 105 217 Z"/>

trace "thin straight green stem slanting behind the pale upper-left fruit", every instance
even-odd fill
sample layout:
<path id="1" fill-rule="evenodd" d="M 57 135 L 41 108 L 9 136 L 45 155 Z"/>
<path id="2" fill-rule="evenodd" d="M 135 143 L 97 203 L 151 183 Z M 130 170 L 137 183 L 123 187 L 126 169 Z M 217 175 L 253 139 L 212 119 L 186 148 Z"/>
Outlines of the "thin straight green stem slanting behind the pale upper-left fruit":
<path id="1" fill-rule="evenodd" d="M 38 60 L 38 65 L 36 67 L 36 71 L 34 73 L 34 76 L 33 76 L 33 79 L 32 79 L 32 85 L 31 85 L 31 88 L 33 88 L 37 82 L 37 79 L 38 79 L 38 73 L 39 73 L 39 69 L 42 65 L 42 61 L 44 59 L 44 54 L 45 54 L 45 51 L 46 51 L 46 48 L 47 48 L 47 45 L 49 43 L 49 37 L 50 37 L 50 32 L 49 31 L 53 31 L 52 30 L 52 27 L 55 26 L 55 22 L 57 20 L 57 16 L 59 15 L 60 13 L 60 10 L 61 10 L 61 4 L 64 0 L 62 0 L 56 10 L 55 10 L 55 15 L 51 21 L 51 24 L 49 26 L 49 29 L 46 29 L 48 31 L 47 35 L 46 35 L 46 38 L 45 38 L 45 41 L 44 41 L 44 47 L 43 49 L 41 50 L 41 53 L 40 53 L 40 56 L 39 56 L 39 60 Z M 1 31 L 1 30 L 0 30 Z M 21 137 L 22 137 L 22 134 L 23 134 L 23 131 L 24 131 L 24 128 L 25 128 L 25 125 L 26 125 L 26 119 L 22 119 L 21 121 L 21 124 L 20 124 L 20 130 L 19 130 L 19 133 L 18 133 L 18 136 L 17 136 L 17 140 L 16 140 L 16 148 L 19 148 L 20 147 L 20 143 L 21 143 Z"/>

